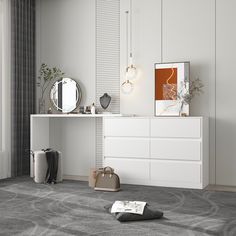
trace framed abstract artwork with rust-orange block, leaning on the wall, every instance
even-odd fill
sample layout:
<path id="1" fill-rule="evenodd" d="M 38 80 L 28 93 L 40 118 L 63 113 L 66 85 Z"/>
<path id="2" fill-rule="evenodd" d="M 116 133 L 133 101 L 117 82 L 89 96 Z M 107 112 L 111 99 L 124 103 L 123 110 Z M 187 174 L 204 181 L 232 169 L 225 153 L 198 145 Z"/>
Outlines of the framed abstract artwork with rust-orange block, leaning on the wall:
<path id="1" fill-rule="evenodd" d="M 189 115 L 181 97 L 189 93 L 189 62 L 155 64 L 155 115 Z"/>

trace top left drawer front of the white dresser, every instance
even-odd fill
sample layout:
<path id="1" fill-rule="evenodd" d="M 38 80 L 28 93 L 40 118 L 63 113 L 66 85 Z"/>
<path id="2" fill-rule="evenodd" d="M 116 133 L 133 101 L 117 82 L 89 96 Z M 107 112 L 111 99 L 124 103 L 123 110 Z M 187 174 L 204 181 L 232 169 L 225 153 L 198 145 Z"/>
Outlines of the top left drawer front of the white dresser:
<path id="1" fill-rule="evenodd" d="M 105 118 L 105 136 L 149 136 L 149 120 L 143 118 Z"/>

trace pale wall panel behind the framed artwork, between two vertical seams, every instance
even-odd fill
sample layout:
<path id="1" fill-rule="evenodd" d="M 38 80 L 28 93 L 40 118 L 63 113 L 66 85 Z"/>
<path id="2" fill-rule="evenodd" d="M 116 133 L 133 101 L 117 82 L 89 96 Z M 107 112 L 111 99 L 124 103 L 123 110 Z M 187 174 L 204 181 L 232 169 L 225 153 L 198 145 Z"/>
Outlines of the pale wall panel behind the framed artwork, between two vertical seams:
<path id="1" fill-rule="evenodd" d="M 204 83 L 191 115 L 210 118 L 210 182 L 215 182 L 215 0 L 163 1 L 163 61 L 190 61 L 190 77 Z"/>

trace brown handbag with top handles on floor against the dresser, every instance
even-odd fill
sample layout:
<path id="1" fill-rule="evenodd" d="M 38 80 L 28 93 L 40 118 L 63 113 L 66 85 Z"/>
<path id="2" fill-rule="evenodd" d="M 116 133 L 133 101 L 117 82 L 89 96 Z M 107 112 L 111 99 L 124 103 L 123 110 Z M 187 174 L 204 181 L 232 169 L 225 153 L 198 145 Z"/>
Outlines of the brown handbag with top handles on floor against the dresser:
<path id="1" fill-rule="evenodd" d="M 120 178 L 114 169 L 107 166 L 99 169 L 96 176 L 95 190 L 117 192 L 120 190 Z"/>

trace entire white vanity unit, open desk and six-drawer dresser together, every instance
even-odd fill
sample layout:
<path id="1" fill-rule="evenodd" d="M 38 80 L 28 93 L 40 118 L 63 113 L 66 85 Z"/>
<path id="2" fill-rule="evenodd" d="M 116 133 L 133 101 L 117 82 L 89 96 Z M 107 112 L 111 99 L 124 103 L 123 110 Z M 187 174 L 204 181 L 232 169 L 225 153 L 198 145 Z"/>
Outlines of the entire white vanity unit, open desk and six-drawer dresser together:
<path id="1" fill-rule="evenodd" d="M 87 179 L 111 166 L 121 183 L 205 188 L 209 183 L 207 117 L 32 115 L 31 149 L 62 152 L 63 173 Z M 99 161 L 98 161 L 99 160 Z"/>

